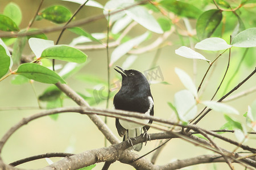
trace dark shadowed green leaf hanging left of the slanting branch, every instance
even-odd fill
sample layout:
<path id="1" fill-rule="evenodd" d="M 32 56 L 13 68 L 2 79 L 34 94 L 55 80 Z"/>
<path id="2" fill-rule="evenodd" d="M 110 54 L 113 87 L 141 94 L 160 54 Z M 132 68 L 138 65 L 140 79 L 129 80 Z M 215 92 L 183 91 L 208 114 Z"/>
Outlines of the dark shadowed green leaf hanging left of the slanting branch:
<path id="1" fill-rule="evenodd" d="M 53 101 L 57 100 L 61 95 L 61 91 L 56 86 L 48 87 L 42 95 L 38 97 L 41 101 Z"/>

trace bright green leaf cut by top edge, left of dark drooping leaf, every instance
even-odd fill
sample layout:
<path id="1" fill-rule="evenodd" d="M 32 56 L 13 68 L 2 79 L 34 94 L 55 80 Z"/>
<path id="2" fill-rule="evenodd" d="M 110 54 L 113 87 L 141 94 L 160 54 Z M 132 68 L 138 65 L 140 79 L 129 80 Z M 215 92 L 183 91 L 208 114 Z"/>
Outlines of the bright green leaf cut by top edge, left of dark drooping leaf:
<path id="1" fill-rule="evenodd" d="M 184 16 L 187 18 L 196 19 L 202 13 L 202 11 L 199 8 L 182 1 L 164 0 L 159 3 L 168 11 L 174 12 L 174 14 Z"/>

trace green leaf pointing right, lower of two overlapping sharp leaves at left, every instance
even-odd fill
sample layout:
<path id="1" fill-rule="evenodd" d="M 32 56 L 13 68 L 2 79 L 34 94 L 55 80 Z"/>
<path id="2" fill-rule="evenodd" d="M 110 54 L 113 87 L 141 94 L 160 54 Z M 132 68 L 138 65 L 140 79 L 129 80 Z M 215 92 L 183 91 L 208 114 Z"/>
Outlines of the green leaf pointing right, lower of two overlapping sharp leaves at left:
<path id="1" fill-rule="evenodd" d="M 36 63 L 23 63 L 18 67 L 15 74 L 26 76 L 28 79 L 33 79 L 37 82 L 55 84 L 57 82 L 65 83 L 65 81 L 54 71 L 40 66 Z"/>

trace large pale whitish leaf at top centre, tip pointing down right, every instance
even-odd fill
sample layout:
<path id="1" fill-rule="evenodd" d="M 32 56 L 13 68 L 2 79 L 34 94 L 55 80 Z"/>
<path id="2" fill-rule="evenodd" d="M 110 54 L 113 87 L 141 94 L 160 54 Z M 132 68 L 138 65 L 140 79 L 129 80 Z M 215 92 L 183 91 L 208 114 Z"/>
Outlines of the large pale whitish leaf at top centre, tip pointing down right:
<path id="1" fill-rule="evenodd" d="M 142 6 L 135 6 L 125 10 L 126 14 L 130 16 L 135 22 L 141 24 L 143 27 L 155 33 L 163 33 L 162 28 L 155 20 L 155 18 L 148 13 Z"/>

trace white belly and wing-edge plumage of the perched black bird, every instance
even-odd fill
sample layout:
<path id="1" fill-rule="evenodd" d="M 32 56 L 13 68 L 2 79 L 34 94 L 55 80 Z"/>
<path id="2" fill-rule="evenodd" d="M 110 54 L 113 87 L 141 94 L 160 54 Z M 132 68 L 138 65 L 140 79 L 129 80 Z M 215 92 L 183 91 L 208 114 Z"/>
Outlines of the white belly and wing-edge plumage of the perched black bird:
<path id="1" fill-rule="evenodd" d="M 147 112 L 145 114 L 149 116 L 150 111 L 154 105 L 154 101 L 151 96 L 148 96 L 147 98 L 148 98 L 148 102 L 150 104 L 150 108 L 147 110 Z M 150 121 L 149 119 L 139 119 L 139 118 L 134 118 L 134 117 L 130 117 L 129 119 L 133 120 L 133 121 L 141 122 L 142 124 L 148 124 L 148 122 Z M 129 122 L 129 121 L 121 120 L 121 119 L 119 119 L 119 123 L 125 129 L 136 129 L 136 128 L 142 128 L 144 126 L 141 124 L 136 124 L 134 122 Z"/>

